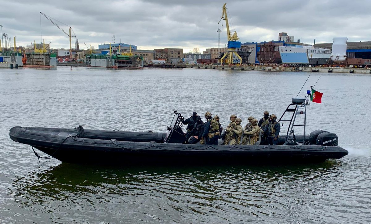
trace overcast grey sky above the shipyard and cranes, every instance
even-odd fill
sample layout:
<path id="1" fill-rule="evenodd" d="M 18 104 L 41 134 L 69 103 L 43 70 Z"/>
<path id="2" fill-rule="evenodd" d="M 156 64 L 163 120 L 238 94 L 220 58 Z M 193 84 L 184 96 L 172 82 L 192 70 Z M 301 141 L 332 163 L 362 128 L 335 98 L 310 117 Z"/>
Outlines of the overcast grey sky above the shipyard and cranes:
<path id="1" fill-rule="evenodd" d="M 113 42 L 115 34 L 116 43 L 121 40 L 138 49 L 177 47 L 188 53 L 198 47 L 202 53 L 218 46 L 216 30 L 221 24 L 220 46 L 227 43 L 225 22 L 218 24 L 224 3 L 230 29 L 242 43 L 278 40 L 279 32 L 311 44 L 339 36 L 348 37 L 348 42 L 371 39 L 370 0 L 9 0 L 0 3 L 0 24 L 12 40 L 17 36 L 17 46 L 45 39 L 51 48 L 69 48 L 69 37 L 41 11 L 71 26 L 80 49 L 86 49 L 84 42 L 96 48 Z M 56 23 L 68 32 L 68 26 Z"/>

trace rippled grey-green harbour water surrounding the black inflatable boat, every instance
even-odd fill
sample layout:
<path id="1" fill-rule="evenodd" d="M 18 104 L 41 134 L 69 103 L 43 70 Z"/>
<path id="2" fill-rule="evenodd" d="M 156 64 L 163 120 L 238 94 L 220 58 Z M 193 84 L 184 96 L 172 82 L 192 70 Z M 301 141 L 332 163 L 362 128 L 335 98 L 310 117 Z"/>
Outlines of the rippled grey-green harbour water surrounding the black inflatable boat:
<path id="1" fill-rule="evenodd" d="M 320 164 L 76 165 L 35 157 L 13 126 L 165 132 L 173 111 L 282 115 L 318 80 L 307 134 L 349 155 Z M 371 76 L 254 70 L 0 70 L 0 223 L 371 223 Z M 285 126 L 284 126 L 285 127 Z M 283 127 L 283 128 L 284 128 Z M 37 151 L 39 155 L 42 152 Z M 73 157 L 73 155 L 71 155 Z"/>

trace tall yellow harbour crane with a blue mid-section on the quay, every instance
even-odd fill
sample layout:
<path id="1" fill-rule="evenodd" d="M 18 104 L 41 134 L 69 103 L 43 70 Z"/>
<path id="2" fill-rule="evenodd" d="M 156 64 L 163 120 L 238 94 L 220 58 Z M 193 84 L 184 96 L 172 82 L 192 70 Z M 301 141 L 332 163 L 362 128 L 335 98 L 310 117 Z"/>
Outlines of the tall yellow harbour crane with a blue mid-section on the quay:
<path id="1" fill-rule="evenodd" d="M 228 23 L 228 17 L 227 17 L 227 3 L 224 3 L 223 8 L 221 9 L 221 18 L 220 21 L 223 19 L 226 21 L 226 27 L 227 27 L 227 39 L 228 39 L 228 50 L 223 55 L 223 57 L 220 58 L 221 64 L 242 64 L 242 58 L 238 55 L 236 48 L 241 47 L 241 42 L 236 41 L 238 40 L 237 31 L 234 31 L 232 34 L 229 30 L 229 23 Z M 218 23 L 218 24 L 219 24 Z"/>

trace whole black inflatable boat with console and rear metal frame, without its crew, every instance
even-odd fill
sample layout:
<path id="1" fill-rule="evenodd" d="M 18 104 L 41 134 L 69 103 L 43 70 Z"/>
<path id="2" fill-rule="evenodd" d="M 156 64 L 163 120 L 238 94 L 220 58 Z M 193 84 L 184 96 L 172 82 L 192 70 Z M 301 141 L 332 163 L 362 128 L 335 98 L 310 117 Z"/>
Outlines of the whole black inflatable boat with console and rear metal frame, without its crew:
<path id="1" fill-rule="evenodd" d="M 348 155 L 347 150 L 337 146 L 336 134 L 316 130 L 305 135 L 307 105 L 306 99 L 292 99 L 279 119 L 281 125 L 288 123 L 288 129 L 286 133 L 281 131 L 283 136 L 279 137 L 278 145 L 184 144 L 183 116 L 177 111 L 164 133 L 88 130 L 82 126 L 75 129 L 16 126 L 9 135 L 13 141 L 70 163 L 321 162 Z M 295 123 L 298 115 L 303 116 L 302 124 Z M 294 134 L 293 129 L 298 126 L 302 126 L 303 135 Z"/>

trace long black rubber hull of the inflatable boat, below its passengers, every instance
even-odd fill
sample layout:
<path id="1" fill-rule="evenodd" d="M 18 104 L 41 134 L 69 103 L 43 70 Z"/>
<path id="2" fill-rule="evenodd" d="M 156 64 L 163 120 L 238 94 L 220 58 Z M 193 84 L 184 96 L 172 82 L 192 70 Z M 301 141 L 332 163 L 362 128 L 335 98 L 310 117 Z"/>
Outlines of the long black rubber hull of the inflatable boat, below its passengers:
<path id="1" fill-rule="evenodd" d="M 86 130 L 86 134 L 89 134 Z M 98 130 L 95 130 L 98 131 Z M 112 131 L 98 131 L 112 133 Z M 180 163 L 245 163 L 322 162 L 339 159 L 348 151 L 339 146 L 321 145 L 191 145 L 160 142 L 164 133 L 124 132 L 143 140 L 118 141 L 109 136 L 80 138 L 76 129 L 14 127 L 13 141 L 27 144 L 62 162 L 104 164 L 180 164 Z M 91 134 L 91 133 L 90 133 Z M 107 134 L 111 135 L 111 134 Z M 117 138 L 117 136 L 115 136 Z M 136 138 L 132 138 L 137 140 Z M 152 139 L 153 140 L 153 139 Z M 143 140 L 144 141 L 144 140 Z"/>

